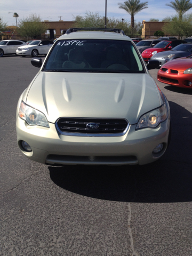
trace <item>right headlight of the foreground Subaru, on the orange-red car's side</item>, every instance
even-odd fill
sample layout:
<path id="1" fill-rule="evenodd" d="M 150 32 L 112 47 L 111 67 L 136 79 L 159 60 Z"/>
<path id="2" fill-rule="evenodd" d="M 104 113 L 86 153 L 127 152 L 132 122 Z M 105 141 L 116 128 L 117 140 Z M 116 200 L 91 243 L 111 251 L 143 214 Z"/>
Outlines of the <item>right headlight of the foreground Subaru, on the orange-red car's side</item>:
<path id="1" fill-rule="evenodd" d="M 164 103 L 160 108 L 156 108 L 146 113 L 145 115 L 142 115 L 139 119 L 136 129 L 146 127 L 155 128 L 159 125 L 159 123 L 164 122 L 166 118 L 167 111 Z"/>

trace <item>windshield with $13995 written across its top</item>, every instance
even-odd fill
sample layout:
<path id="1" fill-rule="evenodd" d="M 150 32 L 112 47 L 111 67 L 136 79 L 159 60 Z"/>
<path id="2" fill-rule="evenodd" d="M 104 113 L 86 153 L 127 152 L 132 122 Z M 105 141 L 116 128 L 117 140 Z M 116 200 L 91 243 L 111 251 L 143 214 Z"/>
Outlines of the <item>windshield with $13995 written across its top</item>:
<path id="1" fill-rule="evenodd" d="M 132 42 L 105 39 L 55 42 L 43 71 L 145 73 Z"/>

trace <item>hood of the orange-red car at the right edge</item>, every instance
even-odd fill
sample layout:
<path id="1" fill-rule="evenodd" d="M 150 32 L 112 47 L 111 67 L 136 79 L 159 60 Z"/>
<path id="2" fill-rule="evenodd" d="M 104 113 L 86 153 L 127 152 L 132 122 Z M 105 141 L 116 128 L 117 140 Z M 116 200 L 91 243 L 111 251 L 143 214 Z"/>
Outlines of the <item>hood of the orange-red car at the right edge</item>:
<path id="1" fill-rule="evenodd" d="M 192 59 L 186 57 L 174 59 L 165 63 L 161 68 L 168 68 L 182 72 L 188 68 L 192 68 Z"/>

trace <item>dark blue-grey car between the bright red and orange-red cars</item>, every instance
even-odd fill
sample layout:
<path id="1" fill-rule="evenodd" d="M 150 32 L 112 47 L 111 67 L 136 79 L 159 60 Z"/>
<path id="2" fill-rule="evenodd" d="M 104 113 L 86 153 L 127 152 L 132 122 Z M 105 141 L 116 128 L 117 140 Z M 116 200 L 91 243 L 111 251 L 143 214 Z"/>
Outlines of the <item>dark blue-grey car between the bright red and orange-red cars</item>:
<path id="1" fill-rule="evenodd" d="M 159 52 L 151 57 L 151 60 L 158 60 L 159 66 L 163 66 L 164 63 L 178 59 L 181 57 L 188 57 L 192 54 L 192 44 L 180 44 L 175 46 L 171 51 Z"/>

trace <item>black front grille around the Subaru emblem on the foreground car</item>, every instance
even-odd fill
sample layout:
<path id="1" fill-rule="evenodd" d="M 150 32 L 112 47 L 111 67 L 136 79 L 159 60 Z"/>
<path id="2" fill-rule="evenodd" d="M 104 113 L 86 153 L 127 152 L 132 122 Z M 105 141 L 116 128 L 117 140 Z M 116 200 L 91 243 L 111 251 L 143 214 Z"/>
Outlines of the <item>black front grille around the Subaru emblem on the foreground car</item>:
<path id="1" fill-rule="evenodd" d="M 98 129 L 89 129 L 86 125 L 89 123 L 97 124 Z M 56 127 L 61 134 L 76 135 L 84 134 L 104 134 L 116 136 L 123 135 L 128 127 L 129 123 L 126 119 L 121 118 L 71 118 L 61 117 L 56 122 Z M 69 134 L 73 133 L 73 134 Z"/>

